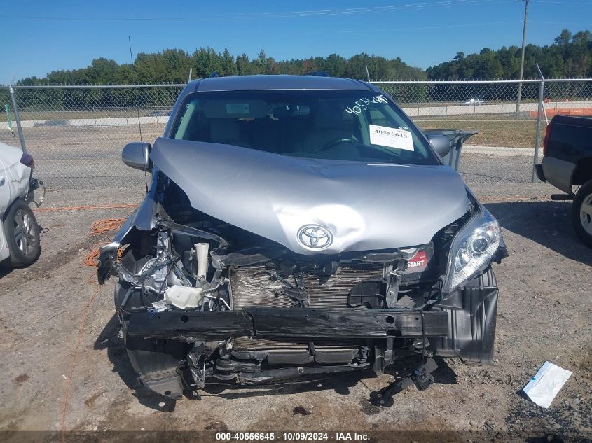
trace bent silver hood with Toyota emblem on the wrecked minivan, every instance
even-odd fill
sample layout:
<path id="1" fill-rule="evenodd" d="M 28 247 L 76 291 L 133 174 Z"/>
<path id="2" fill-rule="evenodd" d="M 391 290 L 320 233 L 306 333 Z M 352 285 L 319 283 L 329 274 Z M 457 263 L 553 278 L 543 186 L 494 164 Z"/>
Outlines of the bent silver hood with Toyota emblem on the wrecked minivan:
<path id="1" fill-rule="evenodd" d="M 300 254 L 426 244 L 469 210 L 464 183 L 447 166 L 305 159 L 162 138 L 150 158 L 195 209 Z M 308 234 L 320 227 L 332 241 L 307 247 L 298 238 L 303 227 Z"/>

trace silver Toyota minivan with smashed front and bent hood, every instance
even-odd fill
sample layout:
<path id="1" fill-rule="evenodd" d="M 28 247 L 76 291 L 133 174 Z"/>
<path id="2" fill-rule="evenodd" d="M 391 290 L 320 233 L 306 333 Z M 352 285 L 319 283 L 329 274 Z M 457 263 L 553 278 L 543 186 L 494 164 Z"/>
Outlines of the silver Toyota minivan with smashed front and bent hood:
<path id="1" fill-rule="evenodd" d="M 359 80 L 189 83 L 163 136 L 123 149 L 151 185 L 99 260 L 142 383 L 180 398 L 415 356 L 425 388 L 434 356 L 492 360 L 502 232 L 429 137 Z"/>

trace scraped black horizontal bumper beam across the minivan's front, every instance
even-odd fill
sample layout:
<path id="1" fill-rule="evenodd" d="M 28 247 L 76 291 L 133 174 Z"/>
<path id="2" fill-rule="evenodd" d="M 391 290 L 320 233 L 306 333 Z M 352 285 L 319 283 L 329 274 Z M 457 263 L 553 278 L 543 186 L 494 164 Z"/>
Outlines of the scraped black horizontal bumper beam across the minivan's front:
<path id="1" fill-rule="evenodd" d="M 242 336 L 386 338 L 424 334 L 448 335 L 448 312 L 245 307 L 242 311 L 165 311 L 151 317 L 145 312 L 132 312 L 128 325 L 131 337 L 187 342 Z"/>

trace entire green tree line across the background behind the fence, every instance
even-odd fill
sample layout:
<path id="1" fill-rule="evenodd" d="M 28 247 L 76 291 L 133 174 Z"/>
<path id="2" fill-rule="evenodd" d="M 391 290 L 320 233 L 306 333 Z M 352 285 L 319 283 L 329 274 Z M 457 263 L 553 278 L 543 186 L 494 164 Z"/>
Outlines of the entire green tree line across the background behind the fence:
<path id="1" fill-rule="evenodd" d="M 189 70 L 193 78 L 205 78 L 212 72 L 219 76 L 249 74 L 296 74 L 325 71 L 331 76 L 366 79 L 366 67 L 372 80 L 459 80 L 470 78 L 518 78 L 521 48 L 483 48 L 479 54 L 457 52 L 449 62 L 429 67 L 425 71 L 408 66 L 399 57 L 387 59 L 365 52 L 349 59 L 337 54 L 328 57 L 277 61 L 261 50 L 256 58 L 247 54 L 231 55 L 228 49 L 200 48 L 190 54 L 181 49 L 137 55 L 133 64 L 118 64 L 98 58 L 82 69 L 60 70 L 44 78 L 29 77 L 19 85 L 44 84 L 134 84 L 186 83 Z M 572 34 L 564 29 L 551 45 L 527 45 L 525 48 L 525 78 L 538 78 L 536 64 L 547 78 L 592 77 L 592 33 Z"/>

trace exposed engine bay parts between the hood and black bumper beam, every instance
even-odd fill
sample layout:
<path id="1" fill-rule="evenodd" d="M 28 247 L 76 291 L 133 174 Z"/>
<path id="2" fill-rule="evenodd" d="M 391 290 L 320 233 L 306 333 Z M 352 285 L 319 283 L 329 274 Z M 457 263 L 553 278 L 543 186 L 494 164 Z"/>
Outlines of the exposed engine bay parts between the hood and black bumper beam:
<path id="1" fill-rule="evenodd" d="M 392 309 L 401 303 L 406 307 L 423 305 L 437 289 L 433 244 L 349 259 L 316 260 L 273 244 L 232 251 L 228 241 L 212 232 L 165 220 L 158 226 L 152 258 L 144 259 L 137 272 L 116 266 L 120 277 L 132 283 L 131 290 L 146 297 L 149 310 L 214 311 L 250 306 Z M 252 264 L 257 261 L 260 264 Z"/>

